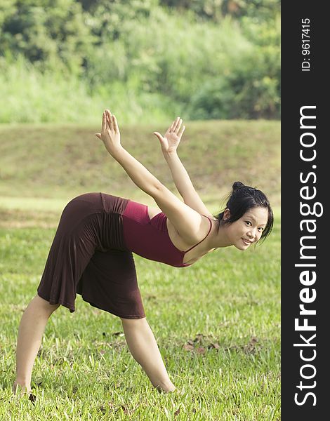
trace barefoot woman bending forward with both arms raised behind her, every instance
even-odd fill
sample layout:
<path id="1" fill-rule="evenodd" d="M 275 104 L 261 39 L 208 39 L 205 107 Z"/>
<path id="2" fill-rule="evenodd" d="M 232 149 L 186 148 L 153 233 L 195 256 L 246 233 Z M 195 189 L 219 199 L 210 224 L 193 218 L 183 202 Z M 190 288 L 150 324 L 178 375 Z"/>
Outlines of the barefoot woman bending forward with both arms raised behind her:
<path id="1" fill-rule="evenodd" d="M 132 252 L 175 267 L 187 267 L 219 247 L 246 250 L 272 229 L 272 210 L 258 189 L 235 182 L 225 210 L 209 212 L 176 148 L 185 131 L 178 117 L 164 137 L 154 132 L 169 163 L 180 201 L 120 142 L 117 119 L 106 110 L 95 135 L 133 182 L 159 208 L 102 193 L 72 199 L 62 212 L 37 295 L 22 316 L 13 392 L 31 391 L 31 376 L 46 323 L 60 305 L 74 312 L 76 294 L 120 317 L 128 348 L 159 391 L 176 390 L 150 329 L 136 279 Z M 185 250 L 185 251 L 183 251 Z"/>

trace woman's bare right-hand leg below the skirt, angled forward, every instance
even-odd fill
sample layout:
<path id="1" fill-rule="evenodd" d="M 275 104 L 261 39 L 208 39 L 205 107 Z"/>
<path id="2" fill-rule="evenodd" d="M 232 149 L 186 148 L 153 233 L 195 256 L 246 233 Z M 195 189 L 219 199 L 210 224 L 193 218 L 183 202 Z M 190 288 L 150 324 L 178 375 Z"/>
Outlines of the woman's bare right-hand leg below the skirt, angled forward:
<path id="1" fill-rule="evenodd" d="M 169 379 L 154 334 L 147 319 L 121 319 L 125 338 L 133 358 L 142 366 L 152 385 L 163 392 L 176 387 Z"/>

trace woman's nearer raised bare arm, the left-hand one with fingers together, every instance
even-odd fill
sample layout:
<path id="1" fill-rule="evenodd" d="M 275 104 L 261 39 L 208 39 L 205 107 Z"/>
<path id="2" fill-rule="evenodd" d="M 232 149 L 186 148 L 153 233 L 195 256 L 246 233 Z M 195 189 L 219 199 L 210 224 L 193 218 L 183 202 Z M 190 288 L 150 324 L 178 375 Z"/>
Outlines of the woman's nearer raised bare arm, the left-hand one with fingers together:
<path id="1" fill-rule="evenodd" d="M 95 133 L 95 135 L 103 141 L 107 152 L 120 163 L 131 180 L 143 192 L 152 196 L 185 241 L 194 244 L 205 236 L 207 229 L 205 218 L 180 201 L 142 163 L 122 147 L 117 119 L 109 111 L 103 113 L 102 133 Z"/>

